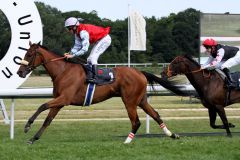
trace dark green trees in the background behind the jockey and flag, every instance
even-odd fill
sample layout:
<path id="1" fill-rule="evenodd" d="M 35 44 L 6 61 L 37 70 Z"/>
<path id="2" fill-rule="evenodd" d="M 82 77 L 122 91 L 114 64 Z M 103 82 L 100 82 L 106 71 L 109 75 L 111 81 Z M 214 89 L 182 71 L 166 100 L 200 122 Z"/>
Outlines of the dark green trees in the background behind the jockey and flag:
<path id="1" fill-rule="evenodd" d="M 84 19 L 83 23 L 111 27 L 112 44 L 100 56 L 99 63 L 126 63 L 128 54 L 128 20 L 111 21 L 98 17 L 97 11 L 90 13 L 80 11 L 61 12 L 57 8 L 35 2 L 40 12 L 43 24 L 43 45 L 53 52 L 63 54 L 68 52 L 74 43 L 74 37 L 64 28 L 64 21 L 68 17 Z M 189 53 L 197 56 L 199 44 L 199 15 L 195 9 L 187 9 L 168 17 L 146 19 L 147 50 L 131 51 L 131 62 L 170 62 L 176 55 Z M 9 24 L 0 13 L 0 55 L 6 53 L 11 32 Z M 90 52 L 90 51 L 89 51 Z M 84 58 L 89 53 L 84 55 Z M 1 58 L 0 56 L 0 58 Z"/>

